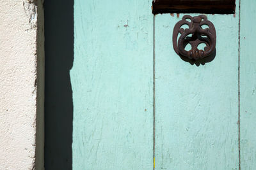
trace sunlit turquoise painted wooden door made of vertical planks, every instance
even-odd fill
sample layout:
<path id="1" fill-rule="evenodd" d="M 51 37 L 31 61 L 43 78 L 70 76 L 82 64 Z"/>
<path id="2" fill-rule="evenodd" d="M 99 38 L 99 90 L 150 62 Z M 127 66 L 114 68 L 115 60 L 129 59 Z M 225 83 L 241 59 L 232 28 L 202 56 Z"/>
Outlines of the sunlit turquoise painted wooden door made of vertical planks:
<path id="1" fill-rule="evenodd" d="M 181 14 L 75 0 L 73 169 L 256 169 L 256 3 L 236 3 L 206 15 L 216 57 L 196 66 L 172 47 Z"/>

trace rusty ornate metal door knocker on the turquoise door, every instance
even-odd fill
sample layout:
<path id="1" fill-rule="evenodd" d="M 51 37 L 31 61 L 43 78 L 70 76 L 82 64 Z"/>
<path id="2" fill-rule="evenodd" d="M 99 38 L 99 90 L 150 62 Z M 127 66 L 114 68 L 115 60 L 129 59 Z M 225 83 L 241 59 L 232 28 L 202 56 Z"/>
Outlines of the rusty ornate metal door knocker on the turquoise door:
<path id="1" fill-rule="evenodd" d="M 189 22 L 188 20 L 191 20 Z M 181 28 L 182 25 L 188 25 L 188 29 Z M 207 25 L 209 28 L 202 28 L 202 25 Z M 180 37 L 177 42 L 178 35 Z M 191 35 L 191 36 L 189 36 Z M 215 27 L 207 20 L 205 15 L 199 15 L 191 17 L 190 15 L 184 15 L 182 20 L 177 22 L 173 29 L 173 48 L 178 55 L 187 57 L 191 60 L 203 59 L 215 52 L 216 46 L 216 31 Z M 191 45 L 191 50 L 185 50 L 188 43 Z M 198 50 L 198 45 L 204 43 L 206 46 L 204 50 Z"/>

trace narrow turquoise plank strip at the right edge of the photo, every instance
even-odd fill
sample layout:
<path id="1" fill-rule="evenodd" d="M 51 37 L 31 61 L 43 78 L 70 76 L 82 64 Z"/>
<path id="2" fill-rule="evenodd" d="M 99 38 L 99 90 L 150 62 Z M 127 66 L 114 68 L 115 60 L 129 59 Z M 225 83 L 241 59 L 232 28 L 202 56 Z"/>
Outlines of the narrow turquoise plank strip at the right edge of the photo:
<path id="1" fill-rule="evenodd" d="M 256 169 L 256 1 L 241 1 L 241 169 Z"/>

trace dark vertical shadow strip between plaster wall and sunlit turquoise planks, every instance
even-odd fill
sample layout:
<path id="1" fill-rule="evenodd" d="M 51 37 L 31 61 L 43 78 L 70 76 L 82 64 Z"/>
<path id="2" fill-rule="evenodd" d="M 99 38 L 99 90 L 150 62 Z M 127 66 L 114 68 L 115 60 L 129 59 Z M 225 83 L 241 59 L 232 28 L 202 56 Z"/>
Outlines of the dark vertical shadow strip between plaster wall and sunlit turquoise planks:
<path id="1" fill-rule="evenodd" d="M 72 169 L 74 0 L 45 0 L 45 170 Z"/>

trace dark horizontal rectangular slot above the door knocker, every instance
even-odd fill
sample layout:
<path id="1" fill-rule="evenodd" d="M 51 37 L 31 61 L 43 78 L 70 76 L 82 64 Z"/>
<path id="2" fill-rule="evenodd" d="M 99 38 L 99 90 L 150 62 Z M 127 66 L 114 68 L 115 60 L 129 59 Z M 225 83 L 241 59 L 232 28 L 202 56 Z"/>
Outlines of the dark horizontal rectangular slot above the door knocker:
<path id="1" fill-rule="evenodd" d="M 232 14 L 236 0 L 154 0 L 152 13 Z"/>

